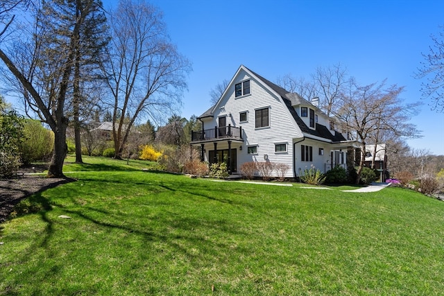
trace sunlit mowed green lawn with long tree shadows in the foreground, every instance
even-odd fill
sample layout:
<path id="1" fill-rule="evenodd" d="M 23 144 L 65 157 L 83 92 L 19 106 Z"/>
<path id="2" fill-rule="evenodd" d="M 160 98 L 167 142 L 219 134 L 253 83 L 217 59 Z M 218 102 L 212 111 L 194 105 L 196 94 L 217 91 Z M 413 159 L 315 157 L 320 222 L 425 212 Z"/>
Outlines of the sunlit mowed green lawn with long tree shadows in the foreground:
<path id="1" fill-rule="evenodd" d="M 0 295 L 443 293 L 443 202 L 133 167 L 28 198 L 0 225 Z"/>

